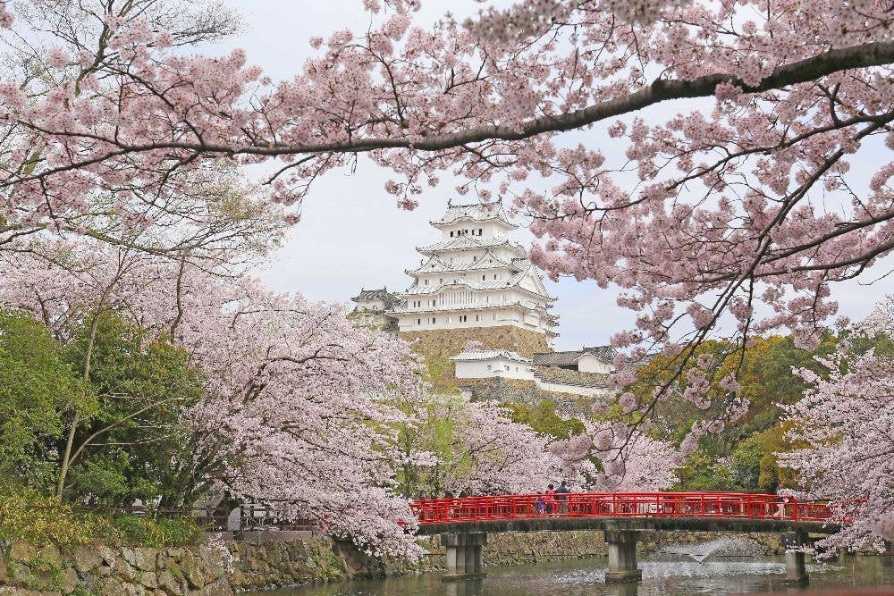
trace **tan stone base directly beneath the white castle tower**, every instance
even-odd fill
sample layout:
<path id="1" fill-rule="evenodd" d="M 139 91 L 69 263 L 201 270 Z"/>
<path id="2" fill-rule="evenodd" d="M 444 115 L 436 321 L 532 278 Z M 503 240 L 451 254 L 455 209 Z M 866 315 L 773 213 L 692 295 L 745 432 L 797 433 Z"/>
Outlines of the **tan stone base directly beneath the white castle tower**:
<path id="1" fill-rule="evenodd" d="M 527 358 L 535 352 L 552 352 L 543 333 L 532 332 L 513 325 L 401 332 L 401 339 L 418 340 L 413 348 L 415 351 L 426 356 L 437 357 L 456 356 L 469 340 L 481 341 L 484 344 L 484 349 L 505 348 Z"/>

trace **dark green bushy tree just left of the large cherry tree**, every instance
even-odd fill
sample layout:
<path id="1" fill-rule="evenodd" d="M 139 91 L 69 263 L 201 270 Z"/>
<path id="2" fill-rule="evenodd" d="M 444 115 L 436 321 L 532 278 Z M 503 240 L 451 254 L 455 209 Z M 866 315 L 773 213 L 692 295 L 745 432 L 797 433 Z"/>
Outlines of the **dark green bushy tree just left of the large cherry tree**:
<path id="1" fill-rule="evenodd" d="M 106 312 L 76 330 L 65 355 L 89 371 L 99 405 L 74 433 L 66 491 L 97 503 L 181 504 L 190 492 L 179 467 L 190 441 L 181 413 L 202 392 L 186 352 Z"/>

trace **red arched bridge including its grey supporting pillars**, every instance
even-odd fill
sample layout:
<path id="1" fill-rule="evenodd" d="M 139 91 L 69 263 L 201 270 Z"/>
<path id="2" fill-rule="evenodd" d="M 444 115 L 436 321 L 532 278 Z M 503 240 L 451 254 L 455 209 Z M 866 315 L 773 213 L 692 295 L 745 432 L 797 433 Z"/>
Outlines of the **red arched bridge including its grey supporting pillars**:
<path id="1" fill-rule="evenodd" d="M 606 581 L 638 580 L 637 540 L 644 530 L 779 532 L 788 547 L 787 575 L 805 583 L 808 533 L 833 533 L 821 502 L 736 492 L 572 492 L 422 499 L 410 506 L 420 534 L 442 534 L 448 578 L 482 575 L 481 552 L 492 532 L 603 530 Z"/>

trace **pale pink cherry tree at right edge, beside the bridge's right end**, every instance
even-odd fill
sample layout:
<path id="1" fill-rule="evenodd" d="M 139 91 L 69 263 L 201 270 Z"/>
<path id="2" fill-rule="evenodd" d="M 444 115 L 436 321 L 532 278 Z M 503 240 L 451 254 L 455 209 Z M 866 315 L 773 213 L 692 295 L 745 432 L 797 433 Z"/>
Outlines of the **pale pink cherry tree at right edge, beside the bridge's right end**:
<path id="1" fill-rule="evenodd" d="M 889 349 L 857 349 L 859 340 L 889 338 Z M 894 541 L 894 298 L 856 325 L 839 350 L 820 361 L 828 376 L 801 370 L 813 385 L 786 407 L 788 439 L 804 445 L 780 453 L 780 465 L 797 471 L 801 496 L 830 499 L 839 533 L 818 543 L 828 553 L 848 549 L 883 552 Z"/>

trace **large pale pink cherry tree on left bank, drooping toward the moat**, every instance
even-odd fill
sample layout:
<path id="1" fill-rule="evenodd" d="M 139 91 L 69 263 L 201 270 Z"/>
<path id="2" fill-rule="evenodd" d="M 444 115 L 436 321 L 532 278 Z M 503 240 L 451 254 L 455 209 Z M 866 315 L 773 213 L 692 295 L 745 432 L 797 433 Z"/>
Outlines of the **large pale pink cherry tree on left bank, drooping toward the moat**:
<path id="1" fill-rule="evenodd" d="M 58 335 L 98 304 L 187 350 L 205 395 L 181 412 L 190 457 L 172 466 L 185 503 L 226 491 L 370 550 L 417 553 L 392 471 L 415 457 L 392 447 L 409 416 L 390 404 L 421 389 L 409 344 L 351 327 L 341 306 L 142 251 L 81 242 L 66 267 L 0 256 L 3 304 Z"/>

